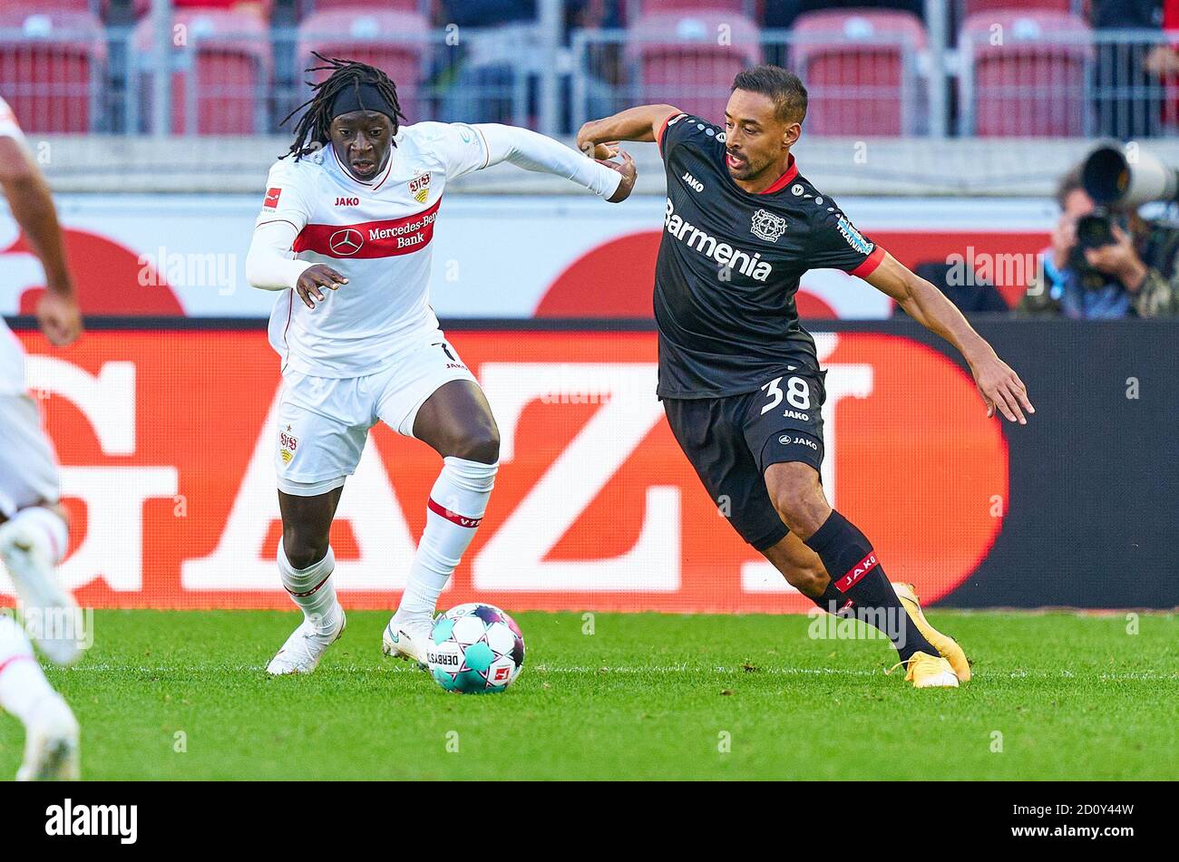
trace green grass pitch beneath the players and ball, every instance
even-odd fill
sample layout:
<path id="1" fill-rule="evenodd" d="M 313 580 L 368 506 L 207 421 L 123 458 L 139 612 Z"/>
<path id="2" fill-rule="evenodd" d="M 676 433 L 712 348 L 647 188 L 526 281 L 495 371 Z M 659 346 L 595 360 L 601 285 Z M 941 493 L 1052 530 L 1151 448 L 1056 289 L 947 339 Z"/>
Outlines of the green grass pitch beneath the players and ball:
<path id="1" fill-rule="evenodd" d="M 502 695 L 443 692 L 351 614 L 310 677 L 262 668 L 294 612 L 99 611 L 48 670 L 87 778 L 1174 778 L 1179 618 L 934 611 L 974 659 L 914 690 L 887 642 L 804 616 L 519 614 Z M 22 735 L 0 715 L 0 777 Z"/>

